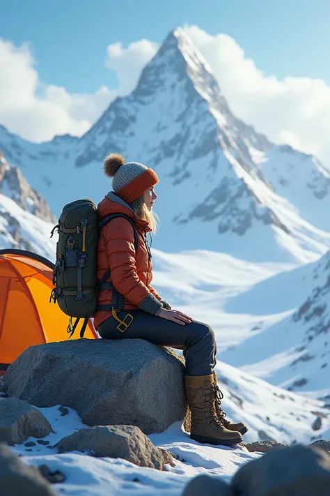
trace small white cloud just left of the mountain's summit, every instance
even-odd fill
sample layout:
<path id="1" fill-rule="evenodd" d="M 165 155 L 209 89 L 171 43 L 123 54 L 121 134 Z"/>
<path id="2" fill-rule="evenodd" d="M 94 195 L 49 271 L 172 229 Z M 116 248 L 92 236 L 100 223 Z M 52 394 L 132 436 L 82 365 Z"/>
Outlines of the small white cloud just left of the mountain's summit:
<path id="1" fill-rule="evenodd" d="M 156 54 L 159 45 L 148 40 L 139 40 L 123 48 L 122 43 L 112 43 L 107 47 L 105 65 L 116 70 L 118 93 L 127 95 L 139 80 L 143 67 Z"/>

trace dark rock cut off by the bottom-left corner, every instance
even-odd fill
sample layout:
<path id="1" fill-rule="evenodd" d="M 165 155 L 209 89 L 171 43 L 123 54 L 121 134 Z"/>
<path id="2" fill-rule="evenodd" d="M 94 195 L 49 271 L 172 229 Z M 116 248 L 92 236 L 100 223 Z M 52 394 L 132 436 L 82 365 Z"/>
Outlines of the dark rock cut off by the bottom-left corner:
<path id="1" fill-rule="evenodd" d="M 22 463 L 18 456 L 0 443 L 1 496 L 56 496 L 39 470 Z"/>

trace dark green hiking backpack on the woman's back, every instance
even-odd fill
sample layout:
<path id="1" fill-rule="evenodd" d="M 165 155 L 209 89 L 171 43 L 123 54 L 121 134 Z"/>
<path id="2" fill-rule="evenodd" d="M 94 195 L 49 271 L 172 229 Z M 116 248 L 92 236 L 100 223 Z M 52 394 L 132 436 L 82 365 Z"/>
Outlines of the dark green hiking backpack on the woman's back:
<path id="1" fill-rule="evenodd" d="M 58 224 L 51 232 L 53 236 L 57 229 L 56 263 L 53 270 L 53 284 L 49 301 L 58 303 L 61 310 L 70 316 L 68 333 L 73 335 L 81 318 L 80 337 L 88 320 L 97 310 L 97 295 L 102 290 L 112 290 L 111 309 L 123 309 L 123 296 L 116 291 L 112 283 L 106 283 L 110 276 L 108 269 L 102 279 L 97 281 L 97 241 L 100 230 L 111 219 L 126 218 L 133 227 L 135 251 L 138 246 L 138 234 L 134 221 L 121 213 L 113 213 L 102 220 L 97 217 L 97 209 L 91 200 L 77 200 L 63 207 Z M 108 308 L 102 308 L 109 310 Z M 72 322 L 72 317 L 76 321 Z"/>

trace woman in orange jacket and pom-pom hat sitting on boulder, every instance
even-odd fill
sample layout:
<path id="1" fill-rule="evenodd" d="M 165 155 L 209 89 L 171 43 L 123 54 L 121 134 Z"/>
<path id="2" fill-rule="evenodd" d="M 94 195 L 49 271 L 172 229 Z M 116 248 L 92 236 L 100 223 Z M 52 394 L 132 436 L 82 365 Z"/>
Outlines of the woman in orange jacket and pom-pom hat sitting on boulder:
<path id="1" fill-rule="evenodd" d="M 94 325 L 105 339 L 139 338 L 184 350 L 184 383 L 191 409 L 191 439 L 210 444 L 237 444 L 248 430 L 225 419 L 214 373 L 217 347 L 211 327 L 196 322 L 162 300 L 151 285 L 147 232 L 155 232 L 152 206 L 157 174 L 145 165 L 125 163 L 116 153 L 104 160 L 113 191 L 97 206 L 100 219 L 121 214 L 102 227 L 97 247 L 97 278 L 102 280 Z M 134 227 L 138 232 L 134 246 Z M 108 271 L 108 272 L 107 272 Z M 104 274 L 110 273 L 104 283 Z M 107 277 L 107 274 L 106 276 Z"/>

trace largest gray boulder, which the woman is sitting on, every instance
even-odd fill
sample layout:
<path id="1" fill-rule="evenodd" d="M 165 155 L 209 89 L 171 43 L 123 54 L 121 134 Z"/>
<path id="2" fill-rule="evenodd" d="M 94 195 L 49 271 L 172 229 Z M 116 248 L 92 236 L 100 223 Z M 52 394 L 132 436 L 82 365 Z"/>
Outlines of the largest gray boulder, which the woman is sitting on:
<path id="1" fill-rule="evenodd" d="M 183 375 L 178 354 L 148 341 L 81 339 L 29 347 L 8 367 L 5 386 L 38 407 L 72 407 L 88 426 L 151 434 L 184 419 Z"/>

